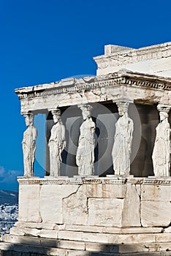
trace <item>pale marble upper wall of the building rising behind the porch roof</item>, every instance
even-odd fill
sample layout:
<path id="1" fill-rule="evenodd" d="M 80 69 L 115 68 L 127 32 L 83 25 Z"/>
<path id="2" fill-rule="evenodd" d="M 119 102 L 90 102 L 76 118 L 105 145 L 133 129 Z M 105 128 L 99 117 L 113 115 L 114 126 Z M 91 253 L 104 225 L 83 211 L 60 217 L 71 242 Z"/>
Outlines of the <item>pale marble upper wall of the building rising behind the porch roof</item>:
<path id="1" fill-rule="evenodd" d="M 105 45 L 104 55 L 94 58 L 97 64 L 97 75 L 117 72 L 121 68 L 134 72 L 171 75 L 171 42 L 151 45 L 139 49 L 118 45 Z"/>

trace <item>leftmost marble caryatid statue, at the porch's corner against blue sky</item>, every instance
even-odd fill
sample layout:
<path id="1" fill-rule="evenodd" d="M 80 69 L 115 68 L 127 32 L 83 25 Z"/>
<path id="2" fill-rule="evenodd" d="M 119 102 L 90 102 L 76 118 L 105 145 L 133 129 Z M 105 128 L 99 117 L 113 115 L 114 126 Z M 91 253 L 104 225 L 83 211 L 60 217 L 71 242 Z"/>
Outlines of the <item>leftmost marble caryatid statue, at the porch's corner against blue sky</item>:
<path id="1" fill-rule="evenodd" d="M 26 122 L 26 131 L 23 133 L 23 164 L 24 176 L 34 176 L 34 160 L 36 151 L 37 129 L 34 127 L 33 113 L 23 115 Z"/>

